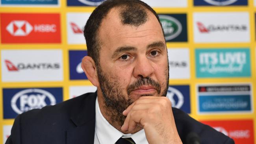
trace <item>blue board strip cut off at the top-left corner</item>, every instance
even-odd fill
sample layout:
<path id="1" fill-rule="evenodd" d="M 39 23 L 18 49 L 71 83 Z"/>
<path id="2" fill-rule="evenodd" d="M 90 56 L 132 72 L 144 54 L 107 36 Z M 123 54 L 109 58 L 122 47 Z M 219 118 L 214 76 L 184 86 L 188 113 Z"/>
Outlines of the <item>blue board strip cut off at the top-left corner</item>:
<path id="1" fill-rule="evenodd" d="M 58 6 L 59 0 L 1 0 L 0 6 Z"/>

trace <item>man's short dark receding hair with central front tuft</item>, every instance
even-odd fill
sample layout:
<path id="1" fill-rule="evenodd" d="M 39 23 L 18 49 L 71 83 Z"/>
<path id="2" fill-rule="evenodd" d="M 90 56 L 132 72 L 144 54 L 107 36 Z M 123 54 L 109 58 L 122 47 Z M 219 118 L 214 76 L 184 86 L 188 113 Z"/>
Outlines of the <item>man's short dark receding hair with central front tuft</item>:
<path id="1" fill-rule="evenodd" d="M 108 15 L 109 11 L 114 7 L 120 7 L 121 12 L 119 13 L 119 17 L 121 19 L 122 24 L 126 25 L 134 25 L 140 26 L 147 22 L 147 11 L 151 11 L 158 22 L 161 22 L 154 11 L 150 6 L 148 6 L 145 2 L 140 0 L 106 0 L 102 4 L 100 4 L 93 11 L 91 16 L 86 22 L 86 25 L 83 30 L 83 35 L 87 44 L 87 52 L 88 56 L 92 57 L 95 61 L 96 66 L 99 66 L 99 51 L 100 51 L 100 41 L 98 38 L 98 31 L 102 20 Z"/>

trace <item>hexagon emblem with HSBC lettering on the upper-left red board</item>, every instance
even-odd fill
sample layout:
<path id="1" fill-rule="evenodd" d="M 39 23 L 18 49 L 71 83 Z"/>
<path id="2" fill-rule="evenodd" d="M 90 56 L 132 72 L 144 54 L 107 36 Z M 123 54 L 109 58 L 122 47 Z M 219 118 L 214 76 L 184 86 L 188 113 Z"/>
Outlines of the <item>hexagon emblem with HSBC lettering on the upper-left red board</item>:
<path id="1" fill-rule="evenodd" d="M 35 24 L 34 26 L 32 26 L 26 20 L 13 20 L 7 25 L 6 30 L 13 36 L 26 36 L 30 34 L 32 30 L 34 30 L 34 32 L 40 33 L 55 33 L 56 25 Z"/>

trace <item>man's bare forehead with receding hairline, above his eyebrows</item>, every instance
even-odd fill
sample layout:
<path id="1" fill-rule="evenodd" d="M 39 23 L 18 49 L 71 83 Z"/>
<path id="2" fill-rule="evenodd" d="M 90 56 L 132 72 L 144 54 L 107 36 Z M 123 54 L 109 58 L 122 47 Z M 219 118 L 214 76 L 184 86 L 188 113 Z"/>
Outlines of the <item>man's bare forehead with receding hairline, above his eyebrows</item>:
<path id="1" fill-rule="evenodd" d="M 147 11 L 147 21 L 140 26 L 122 24 L 119 10 L 113 8 L 102 20 L 98 31 L 101 47 L 113 50 L 119 46 L 143 46 L 154 41 L 163 41 L 164 36 L 156 16 Z M 137 45 L 137 46 L 136 46 Z"/>

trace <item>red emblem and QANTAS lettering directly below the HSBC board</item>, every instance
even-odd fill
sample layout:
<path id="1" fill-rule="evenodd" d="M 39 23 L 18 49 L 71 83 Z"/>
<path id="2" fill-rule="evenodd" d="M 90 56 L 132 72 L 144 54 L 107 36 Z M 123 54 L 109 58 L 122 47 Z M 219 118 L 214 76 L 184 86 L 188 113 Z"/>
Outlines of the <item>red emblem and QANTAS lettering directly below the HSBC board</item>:
<path id="1" fill-rule="evenodd" d="M 59 63 L 18 63 L 15 66 L 11 61 L 4 60 L 6 63 L 6 67 L 8 71 L 19 71 L 19 70 L 26 70 L 26 69 L 59 69 Z"/>

